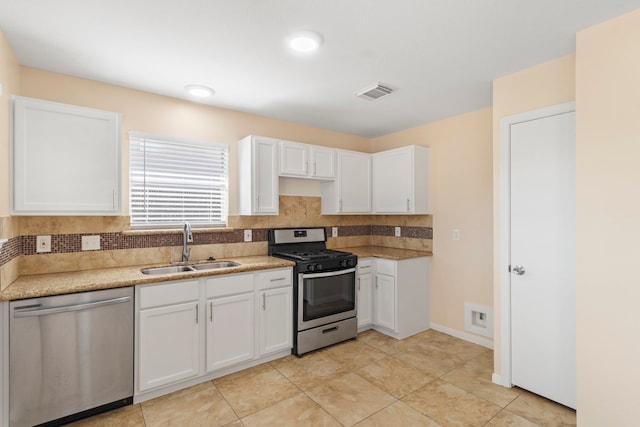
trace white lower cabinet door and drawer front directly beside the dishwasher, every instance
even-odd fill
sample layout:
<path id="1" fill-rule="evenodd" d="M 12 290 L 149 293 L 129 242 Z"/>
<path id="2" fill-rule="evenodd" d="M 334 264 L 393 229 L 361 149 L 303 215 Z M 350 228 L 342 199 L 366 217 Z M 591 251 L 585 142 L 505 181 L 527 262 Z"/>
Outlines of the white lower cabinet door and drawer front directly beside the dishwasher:
<path id="1" fill-rule="evenodd" d="M 200 361 L 198 281 L 144 287 L 138 312 L 138 389 L 196 377 Z"/>

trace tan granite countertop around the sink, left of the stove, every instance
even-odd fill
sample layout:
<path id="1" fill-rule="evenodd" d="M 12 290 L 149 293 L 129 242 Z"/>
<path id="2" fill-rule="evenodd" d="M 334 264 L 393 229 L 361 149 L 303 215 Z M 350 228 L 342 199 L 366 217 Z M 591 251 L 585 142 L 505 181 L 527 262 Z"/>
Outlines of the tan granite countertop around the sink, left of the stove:
<path id="1" fill-rule="evenodd" d="M 0 301 L 144 285 L 167 280 L 185 280 L 222 274 L 244 273 L 255 270 L 292 267 L 295 265 L 295 263 L 291 261 L 266 255 L 226 258 L 216 261 L 234 261 L 240 265 L 216 270 L 157 275 L 142 274 L 140 272 L 141 268 L 152 267 L 151 265 L 144 265 L 20 276 L 4 291 L 0 292 Z"/>

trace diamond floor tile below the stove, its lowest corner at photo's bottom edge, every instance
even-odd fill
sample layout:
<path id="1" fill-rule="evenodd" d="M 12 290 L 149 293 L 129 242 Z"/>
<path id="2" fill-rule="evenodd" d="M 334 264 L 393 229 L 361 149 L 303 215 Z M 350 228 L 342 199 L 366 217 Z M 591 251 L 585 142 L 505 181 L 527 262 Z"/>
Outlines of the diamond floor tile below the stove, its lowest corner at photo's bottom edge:
<path id="1" fill-rule="evenodd" d="M 395 401 L 354 373 L 312 388 L 307 394 L 345 426 L 362 421 Z"/>

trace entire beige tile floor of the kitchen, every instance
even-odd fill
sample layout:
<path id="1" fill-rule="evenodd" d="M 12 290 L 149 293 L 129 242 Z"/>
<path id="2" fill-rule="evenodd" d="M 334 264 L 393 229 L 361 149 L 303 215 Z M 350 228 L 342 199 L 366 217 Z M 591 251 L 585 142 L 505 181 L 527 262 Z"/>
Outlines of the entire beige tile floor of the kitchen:
<path id="1" fill-rule="evenodd" d="M 375 331 L 74 426 L 570 426 L 575 411 L 491 382 L 493 352 L 433 330 Z"/>

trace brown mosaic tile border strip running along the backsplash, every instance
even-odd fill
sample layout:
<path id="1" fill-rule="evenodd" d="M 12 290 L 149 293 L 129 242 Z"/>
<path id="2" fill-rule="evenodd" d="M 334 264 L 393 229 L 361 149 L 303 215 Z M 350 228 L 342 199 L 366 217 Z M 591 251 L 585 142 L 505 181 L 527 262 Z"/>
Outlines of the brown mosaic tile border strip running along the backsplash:
<path id="1" fill-rule="evenodd" d="M 331 236 L 332 227 L 325 227 L 327 236 Z M 394 226 L 387 225 L 347 225 L 338 226 L 338 236 L 394 236 Z M 251 229 L 253 242 L 266 242 L 268 229 Z M 432 227 L 400 227 L 401 237 L 415 239 L 433 239 Z M 51 252 L 73 253 L 82 251 L 82 236 L 100 236 L 100 250 L 145 249 L 182 245 L 182 234 L 123 234 L 123 233 L 82 233 L 54 234 L 51 236 Z M 244 229 L 231 232 L 198 232 L 194 230 L 192 245 L 211 245 L 224 243 L 243 243 Z M 20 255 L 36 255 L 36 236 L 26 235 L 9 239 L 0 250 L 0 266 Z"/>

